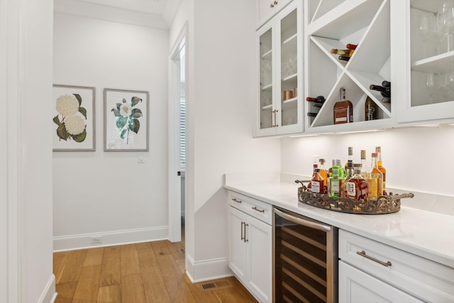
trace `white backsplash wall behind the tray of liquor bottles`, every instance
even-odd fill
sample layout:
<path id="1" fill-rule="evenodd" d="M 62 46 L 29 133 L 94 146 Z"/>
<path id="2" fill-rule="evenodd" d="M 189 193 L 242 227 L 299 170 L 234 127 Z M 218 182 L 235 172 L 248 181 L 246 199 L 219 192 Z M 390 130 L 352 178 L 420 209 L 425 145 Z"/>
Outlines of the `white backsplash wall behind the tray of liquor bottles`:
<path id="1" fill-rule="evenodd" d="M 311 175 L 313 155 L 346 162 L 353 146 L 353 162 L 360 162 L 360 150 L 367 159 L 382 147 L 387 187 L 454 197 L 454 126 L 392 129 L 375 133 L 350 133 L 319 137 L 282 139 L 282 172 Z M 411 200 L 411 199 L 409 199 Z M 407 202 L 411 203 L 411 201 Z M 453 200 L 454 203 L 454 200 Z"/>

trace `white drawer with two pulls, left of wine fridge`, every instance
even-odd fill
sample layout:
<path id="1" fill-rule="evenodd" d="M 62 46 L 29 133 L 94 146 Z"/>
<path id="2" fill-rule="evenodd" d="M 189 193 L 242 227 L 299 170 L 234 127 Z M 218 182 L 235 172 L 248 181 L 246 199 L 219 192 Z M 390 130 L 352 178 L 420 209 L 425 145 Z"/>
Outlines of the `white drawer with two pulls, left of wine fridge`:
<path id="1" fill-rule="evenodd" d="M 236 209 L 271 225 L 271 204 L 245 196 L 244 194 L 238 194 L 238 192 L 228 192 L 228 203 Z"/>

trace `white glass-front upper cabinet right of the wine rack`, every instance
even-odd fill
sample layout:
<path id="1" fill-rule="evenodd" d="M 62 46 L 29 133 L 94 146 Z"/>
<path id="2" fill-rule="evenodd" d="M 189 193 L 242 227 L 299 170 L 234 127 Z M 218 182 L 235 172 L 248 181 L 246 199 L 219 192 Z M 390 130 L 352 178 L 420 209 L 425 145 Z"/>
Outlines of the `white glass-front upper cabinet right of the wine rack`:
<path id="1" fill-rule="evenodd" d="M 398 122 L 453 121 L 453 1 L 394 1 Z"/>

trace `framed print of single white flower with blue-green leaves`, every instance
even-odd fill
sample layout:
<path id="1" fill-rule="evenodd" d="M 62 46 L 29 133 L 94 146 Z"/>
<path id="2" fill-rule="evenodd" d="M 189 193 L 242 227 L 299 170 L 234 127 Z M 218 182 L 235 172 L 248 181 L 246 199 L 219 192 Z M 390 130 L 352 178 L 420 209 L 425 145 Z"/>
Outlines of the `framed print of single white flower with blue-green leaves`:
<path id="1" fill-rule="evenodd" d="M 104 89 L 104 151 L 148 151 L 145 91 Z"/>

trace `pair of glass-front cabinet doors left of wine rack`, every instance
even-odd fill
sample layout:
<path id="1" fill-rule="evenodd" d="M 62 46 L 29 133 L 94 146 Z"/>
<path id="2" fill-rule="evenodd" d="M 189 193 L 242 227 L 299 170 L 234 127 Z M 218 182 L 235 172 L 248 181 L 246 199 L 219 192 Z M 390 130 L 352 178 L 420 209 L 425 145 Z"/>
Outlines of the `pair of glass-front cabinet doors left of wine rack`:
<path id="1" fill-rule="evenodd" d="M 258 115 L 255 136 L 301 132 L 302 2 L 293 1 L 258 30 Z M 298 89 L 299 88 L 299 89 Z"/>

